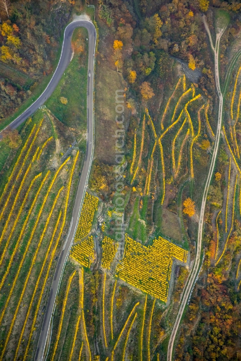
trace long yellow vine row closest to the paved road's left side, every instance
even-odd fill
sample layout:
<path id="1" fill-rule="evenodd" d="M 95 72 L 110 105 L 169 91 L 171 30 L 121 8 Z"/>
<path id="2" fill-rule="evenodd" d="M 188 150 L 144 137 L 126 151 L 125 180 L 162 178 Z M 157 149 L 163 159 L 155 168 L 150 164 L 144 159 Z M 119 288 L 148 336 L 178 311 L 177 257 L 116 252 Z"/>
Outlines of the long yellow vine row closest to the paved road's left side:
<path id="1" fill-rule="evenodd" d="M 65 207 L 64 207 L 64 216 L 63 216 L 63 222 L 62 222 L 62 225 L 60 227 L 60 231 L 59 231 L 59 235 L 58 235 L 58 238 L 55 242 L 55 248 L 54 250 L 52 251 L 52 255 L 51 255 L 51 259 L 50 259 L 50 262 L 49 262 L 49 265 L 48 265 L 48 269 L 47 269 L 47 273 L 46 273 L 46 276 L 45 276 L 45 280 L 43 282 L 43 286 L 42 286 L 42 290 L 41 290 L 41 294 L 39 296 L 39 299 L 38 299 L 38 304 L 37 304 L 37 308 L 35 310 L 35 314 L 34 314 L 34 320 L 33 320 L 33 323 L 32 323 L 32 327 L 31 327 L 31 331 L 30 331 L 30 335 L 29 335 L 29 340 L 28 340 L 28 344 L 26 346 L 26 350 L 25 350 L 25 354 L 24 354 L 24 359 L 23 361 L 26 360 L 26 357 L 28 356 L 28 350 L 29 350 L 29 346 L 30 346 L 30 342 L 31 342 L 31 338 L 33 336 L 33 332 L 35 330 L 35 322 L 36 322 L 36 319 L 37 319 L 37 314 L 38 314 L 38 310 L 39 310 L 39 307 L 40 307 L 40 303 L 41 303 L 41 300 L 42 300 L 42 297 L 43 297 L 43 292 L 45 290 L 45 284 L 47 282 L 47 279 L 48 279 L 48 274 L 50 272 L 50 268 L 51 268 L 51 264 L 52 264 L 52 261 L 54 259 L 54 255 L 55 255 L 55 252 L 56 252 L 56 249 L 57 249 L 57 246 L 59 244 L 59 240 L 62 236 L 62 232 L 63 232 L 63 229 L 64 229 L 64 225 L 65 225 L 65 220 L 66 220 L 66 214 L 67 214 L 67 207 L 68 207 L 68 200 L 69 200 L 69 193 L 70 193 L 70 188 L 71 188 L 71 183 L 72 183 L 72 178 L 73 178 L 73 172 L 75 170 L 75 166 L 76 166 L 76 162 L 77 162 L 77 158 L 79 156 L 79 151 L 77 152 L 76 156 L 75 156 L 75 159 L 73 161 L 73 165 L 72 165 L 72 170 L 71 170 L 71 174 L 70 174 L 70 177 L 69 177 L 69 183 L 68 183 L 68 189 L 67 189 L 67 195 L 66 195 L 66 200 L 65 200 Z M 69 159 L 69 158 L 67 158 Z M 59 218 L 61 216 L 61 211 L 60 211 L 60 215 L 59 215 Z M 54 238 L 54 235 L 57 231 L 57 228 L 58 228 L 58 225 L 56 224 L 55 226 L 55 229 L 54 229 L 54 233 L 52 235 L 52 238 Z"/>

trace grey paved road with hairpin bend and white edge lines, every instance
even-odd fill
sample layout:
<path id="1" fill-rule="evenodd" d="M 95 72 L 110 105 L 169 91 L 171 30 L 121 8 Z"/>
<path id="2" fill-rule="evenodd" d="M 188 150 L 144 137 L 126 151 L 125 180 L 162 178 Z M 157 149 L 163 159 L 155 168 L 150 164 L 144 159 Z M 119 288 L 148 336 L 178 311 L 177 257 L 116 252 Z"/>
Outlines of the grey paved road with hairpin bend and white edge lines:
<path id="1" fill-rule="evenodd" d="M 39 98 L 17 117 L 10 127 L 16 129 L 22 122 L 24 122 L 28 117 L 31 116 L 39 106 L 43 105 L 45 101 L 50 97 L 52 92 L 55 90 L 58 85 L 60 78 L 62 77 L 64 70 L 67 68 L 69 62 L 71 61 L 72 56 L 72 47 L 71 47 L 71 37 L 73 30 L 76 27 L 85 27 L 88 30 L 88 81 L 87 81 L 87 146 L 86 146 L 86 155 L 84 160 L 84 166 L 80 177 L 79 186 L 77 189 L 75 204 L 73 207 L 71 225 L 69 227 L 69 232 L 67 239 L 65 239 L 62 251 L 57 262 L 55 269 L 54 278 L 52 280 L 50 293 L 48 296 L 48 301 L 45 309 L 45 314 L 41 326 L 41 331 L 39 333 L 37 350 L 35 353 L 34 360 L 42 360 L 45 353 L 45 346 L 48 337 L 48 331 L 50 328 L 51 318 L 55 305 L 55 298 L 58 293 L 59 284 L 63 275 L 64 266 L 68 258 L 69 249 L 71 248 L 73 238 L 75 236 L 77 224 L 79 221 L 79 215 L 81 207 L 83 204 L 84 194 L 86 185 L 89 178 L 90 166 L 93 158 L 94 151 L 94 116 L 93 116 L 93 77 L 94 77 L 94 54 L 96 48 L 96 29 L 92 22 L 86 20 L 75 20 L 65 28 L 64 31 L 64 41 L 62 45 L 62 52 L 59 60 L 59 64 L 52 76 L 51 81 L 48 83 L 45 91 L 39 96 Z"/>

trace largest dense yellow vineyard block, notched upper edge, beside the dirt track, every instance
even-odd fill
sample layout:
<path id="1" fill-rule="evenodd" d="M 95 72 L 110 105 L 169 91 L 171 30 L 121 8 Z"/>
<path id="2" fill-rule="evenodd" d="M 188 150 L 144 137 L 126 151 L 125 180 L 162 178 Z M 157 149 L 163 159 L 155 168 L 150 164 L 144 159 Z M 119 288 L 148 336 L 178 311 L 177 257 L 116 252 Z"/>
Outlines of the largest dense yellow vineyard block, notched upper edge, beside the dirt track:
<path id="1" fill-rule="evenodd" d="M 163 302 L 167 301 L 173 259 L 186 263 L 187 251 L 162 237 L 144 246 L 126 235 L 124 256 L 116 275 Z"/>

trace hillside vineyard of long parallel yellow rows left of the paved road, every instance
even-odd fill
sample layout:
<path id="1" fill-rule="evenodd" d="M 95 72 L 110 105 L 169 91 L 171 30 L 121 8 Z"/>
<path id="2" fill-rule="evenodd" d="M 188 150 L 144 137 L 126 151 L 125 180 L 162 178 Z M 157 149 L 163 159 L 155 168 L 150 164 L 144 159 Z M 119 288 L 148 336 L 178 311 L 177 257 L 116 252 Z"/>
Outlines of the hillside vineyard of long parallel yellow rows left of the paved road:
<path id="1" fill-rule="evenodd" d="M 27 360 L 33 352 L 50 275 L 69 221 L 79 152 L 63 163 L 59 159 L 53 168 L 54 137 L 46 134 L 49 122 L 36 114 L 25 123 L 22 146 L 7 159 L 7 176 L 1 184 L 0 360 Z"/>

